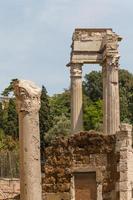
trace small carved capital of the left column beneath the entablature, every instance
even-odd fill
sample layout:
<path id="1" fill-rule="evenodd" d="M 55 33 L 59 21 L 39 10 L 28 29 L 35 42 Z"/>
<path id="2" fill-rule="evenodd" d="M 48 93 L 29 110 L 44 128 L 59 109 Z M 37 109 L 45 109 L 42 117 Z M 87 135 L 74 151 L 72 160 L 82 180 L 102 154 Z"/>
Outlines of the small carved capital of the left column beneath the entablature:
<path id="1" fill-rule="evenodd" d="M 82 64 L 71 64 L 70 73 L 71 77 L 82 77 Z"/>

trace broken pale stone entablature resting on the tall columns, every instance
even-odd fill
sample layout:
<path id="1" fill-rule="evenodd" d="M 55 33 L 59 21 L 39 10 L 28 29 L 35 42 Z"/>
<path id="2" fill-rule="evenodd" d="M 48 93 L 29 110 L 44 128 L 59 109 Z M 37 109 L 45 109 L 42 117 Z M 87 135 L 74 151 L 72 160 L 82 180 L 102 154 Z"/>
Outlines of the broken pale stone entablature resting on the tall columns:
<path id="1" fill-rule="evenodd" d="M 106 57 L 119 57 L 118 42 L 121 37 L 111 28 L 75 29 L 72 37 L 71 63 L 102 64 Z"/>

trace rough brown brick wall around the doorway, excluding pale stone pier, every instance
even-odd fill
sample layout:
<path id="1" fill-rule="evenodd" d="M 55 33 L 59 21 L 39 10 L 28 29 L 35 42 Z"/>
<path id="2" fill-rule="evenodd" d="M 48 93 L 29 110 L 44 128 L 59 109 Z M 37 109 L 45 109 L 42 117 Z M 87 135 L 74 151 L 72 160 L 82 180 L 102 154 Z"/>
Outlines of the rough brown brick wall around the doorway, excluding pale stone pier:
<path id="1" fill-rule="evenodd" d="M 115 136 L 81 132 L 68 139 L 58 139 L 46 148 L 43 167 L 43 197 L 46 200 L 73 198 L 72 177 L 75 172 L 96 172 L 97 199 L 115 196 L 117 159 Z"/>

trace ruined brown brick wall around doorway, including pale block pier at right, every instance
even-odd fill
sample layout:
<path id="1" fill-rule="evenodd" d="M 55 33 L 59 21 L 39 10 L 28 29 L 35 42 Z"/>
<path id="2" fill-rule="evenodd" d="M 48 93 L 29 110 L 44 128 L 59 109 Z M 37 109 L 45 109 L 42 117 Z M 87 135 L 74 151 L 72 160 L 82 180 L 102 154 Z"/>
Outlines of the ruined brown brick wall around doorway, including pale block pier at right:
<path id="1" fill-rule="evenodd" d="M 130 200 L 133 190 L 131 130 L 131 126 L 124 124 L 116 135 L 90 131 L 54 141 L 45 150 L 43 199 L 77 200 L 75 174 L 95 173 L 96 200 Z"/>

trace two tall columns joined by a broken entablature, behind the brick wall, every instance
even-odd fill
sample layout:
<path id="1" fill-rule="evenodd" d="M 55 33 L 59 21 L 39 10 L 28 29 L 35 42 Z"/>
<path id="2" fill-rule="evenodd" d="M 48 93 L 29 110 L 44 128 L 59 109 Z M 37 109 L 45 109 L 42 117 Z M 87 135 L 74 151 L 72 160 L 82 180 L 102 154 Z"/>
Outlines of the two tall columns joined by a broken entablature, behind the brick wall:
<path id="1" fill-rule="evenodd" d="M 71 122 L 72 132 L 83 127 L 82 117 L 82 66 L 98 63 L 103 71 L 104 133 L 115 134 L 120 127 L 118 42 L 121 37 L 112 29 L 75 29 L 72 38 Z"/>

